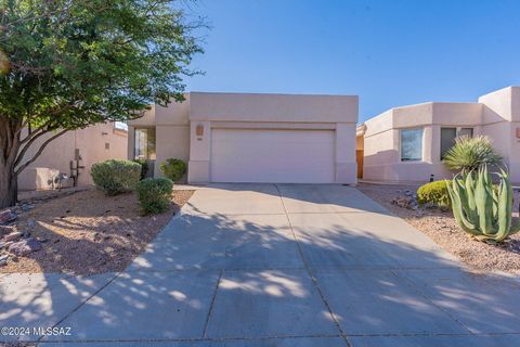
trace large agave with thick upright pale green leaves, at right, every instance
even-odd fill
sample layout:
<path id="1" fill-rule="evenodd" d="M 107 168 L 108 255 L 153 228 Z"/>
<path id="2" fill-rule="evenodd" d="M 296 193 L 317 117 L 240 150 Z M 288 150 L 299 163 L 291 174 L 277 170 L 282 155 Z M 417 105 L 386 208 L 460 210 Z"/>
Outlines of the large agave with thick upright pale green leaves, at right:
<path id="1" fill-rule="evenodd" d="M 460 228 L 480 241 L 503 242 L 520 230 L 512 226 L 512 188 L 509 175 L 496 174 L 498 187 L 493 185 L 487 167 L 468 175 L 457 175 L 447 184 L 455 220 Z"/>

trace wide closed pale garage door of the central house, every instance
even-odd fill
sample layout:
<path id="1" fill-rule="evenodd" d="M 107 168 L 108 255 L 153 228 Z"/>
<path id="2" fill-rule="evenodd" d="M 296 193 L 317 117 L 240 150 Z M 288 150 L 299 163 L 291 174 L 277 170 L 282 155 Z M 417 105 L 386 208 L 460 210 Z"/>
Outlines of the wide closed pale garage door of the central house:
<path id="1" fill-rule="evenodd" d="M 333 183 L 333 130 L 212 129 L 212 182 Z"/>

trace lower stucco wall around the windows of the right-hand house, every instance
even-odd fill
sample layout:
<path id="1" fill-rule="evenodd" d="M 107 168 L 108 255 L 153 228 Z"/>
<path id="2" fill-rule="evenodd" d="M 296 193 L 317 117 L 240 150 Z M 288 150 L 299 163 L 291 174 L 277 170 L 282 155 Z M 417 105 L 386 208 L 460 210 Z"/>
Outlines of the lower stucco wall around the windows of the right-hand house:
<path id="1" fill-rule="evenodd" d="M 479 103 L 424 103 L 396 107 L 365 121 L 363 178 L 380 181 L 428 181 L 451 178 L 441 163 L 441 128 L 472 127 L 481 131 Z M 422 160 L 401 160 L 400 130 L 422 129 Z"/>

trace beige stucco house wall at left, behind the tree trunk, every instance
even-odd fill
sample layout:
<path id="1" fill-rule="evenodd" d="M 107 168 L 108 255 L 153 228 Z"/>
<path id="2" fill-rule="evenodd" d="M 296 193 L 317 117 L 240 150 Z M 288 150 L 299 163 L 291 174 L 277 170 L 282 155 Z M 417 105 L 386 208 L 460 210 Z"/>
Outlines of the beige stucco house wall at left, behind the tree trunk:
<path id="1" fill-rule="evenodd" d="M 40 144 L 52 133 L 41 139 L 25 154 L 32 157 Z M 128 133 L 114 123 L 99 124 L 84 129 L 68 131 L 49 143 L 41 155 L 18 176 L 20 190 L 49 190 L 58 185 L 58 175 L 69 179 L 64 187 L 92 184 L 92 164 L 112 158 L 127 158 Z"/>

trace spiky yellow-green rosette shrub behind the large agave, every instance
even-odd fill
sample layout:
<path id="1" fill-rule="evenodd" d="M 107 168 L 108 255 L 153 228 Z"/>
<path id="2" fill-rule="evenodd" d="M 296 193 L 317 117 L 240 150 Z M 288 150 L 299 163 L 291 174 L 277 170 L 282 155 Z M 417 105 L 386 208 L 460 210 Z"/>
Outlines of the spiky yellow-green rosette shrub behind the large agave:
<path id="1" fill-rule="evenodd" d="M 457 138 L 455 144 L 444 155 L 444 164 L 463 175 L 500 163 L 502 156 L 496 153 L 491 139 L 484 136 Z"/>

